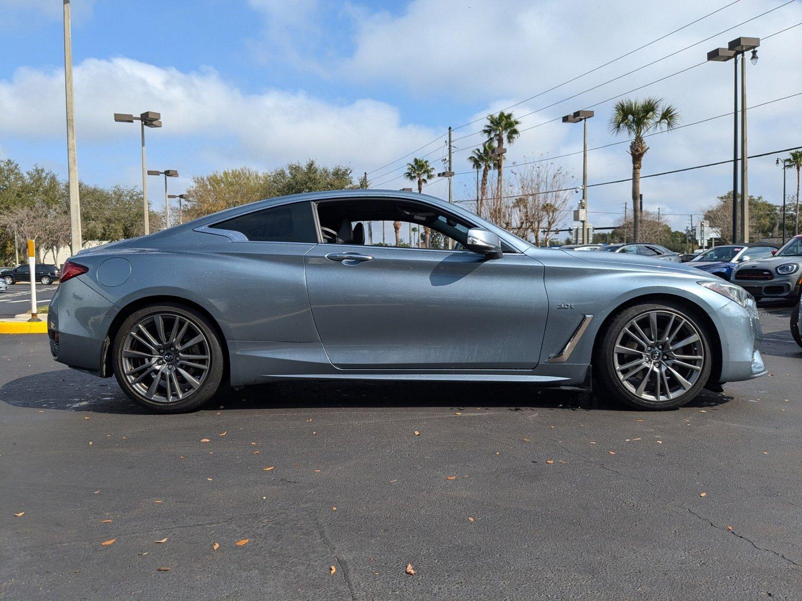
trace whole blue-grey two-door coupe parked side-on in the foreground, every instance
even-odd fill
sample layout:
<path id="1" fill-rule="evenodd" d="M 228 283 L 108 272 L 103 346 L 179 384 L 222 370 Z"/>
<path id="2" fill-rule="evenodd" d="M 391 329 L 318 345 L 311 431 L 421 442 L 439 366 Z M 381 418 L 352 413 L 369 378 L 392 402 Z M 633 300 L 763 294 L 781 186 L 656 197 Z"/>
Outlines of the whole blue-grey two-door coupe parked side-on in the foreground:
<path id="1" fill-rule="evenodd" d="M 371 244 L 377 222 L 407 241 Z M 408 192 L 262 200 L 83 250 L 61 280 L 55 360 L 113 374 L 162 413 L 224 382 L 310 379 L 596 383 L 670 409 L 766 372 L 742 288 L 665 260 L 536 248 Z"/>

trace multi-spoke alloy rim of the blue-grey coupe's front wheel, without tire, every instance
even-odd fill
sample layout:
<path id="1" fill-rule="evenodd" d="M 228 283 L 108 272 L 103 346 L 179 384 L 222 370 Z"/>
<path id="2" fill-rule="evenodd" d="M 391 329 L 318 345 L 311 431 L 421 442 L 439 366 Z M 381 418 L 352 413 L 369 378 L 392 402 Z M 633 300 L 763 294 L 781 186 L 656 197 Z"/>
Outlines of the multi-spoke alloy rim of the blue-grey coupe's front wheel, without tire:
<path id="1" fill-rule="evenodd" d="M 699 381 L 706 361 L 702 335 L 674 311 L 647 311 L 632 318 L 615 341 L 618 381 L 643 401 L 672 401 Z"/>

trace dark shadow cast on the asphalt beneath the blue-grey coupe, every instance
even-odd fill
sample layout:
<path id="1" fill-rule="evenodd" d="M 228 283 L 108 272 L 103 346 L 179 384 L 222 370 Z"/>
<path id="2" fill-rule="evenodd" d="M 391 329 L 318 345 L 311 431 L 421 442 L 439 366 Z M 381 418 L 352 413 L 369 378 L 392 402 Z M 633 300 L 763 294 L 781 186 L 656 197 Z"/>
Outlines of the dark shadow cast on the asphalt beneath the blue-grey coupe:
<path id="1" fill-rule="evenodd" d="M 60 370 L 18 377 L 0 387 L 0 401 L 15 407 L 60 409 L 92 413 L 147 414 L 131 401 L 113 378 L 100 379 Z M 686 406 L 723 405 L 732 397 L 704 390 Z M 313 409 L 313 408 L 472 407 L 528 409 L 606 410 L 630 408 L 603 394 L 542 389 L 535 385 L 496 382 L 408 382 L 408 381 L 287 381 L 228 387 L 213 397 L 201 411 L 225 409 Z"/>

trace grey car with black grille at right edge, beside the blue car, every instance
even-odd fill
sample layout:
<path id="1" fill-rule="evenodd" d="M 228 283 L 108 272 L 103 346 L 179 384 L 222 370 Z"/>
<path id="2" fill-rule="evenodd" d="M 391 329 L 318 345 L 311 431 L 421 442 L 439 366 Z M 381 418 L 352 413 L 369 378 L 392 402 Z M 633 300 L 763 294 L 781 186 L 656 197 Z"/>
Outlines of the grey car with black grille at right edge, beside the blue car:
<path id="1" fill-rule="evenodd" d="M 731 281 L 757 300 L 776 298 L 796 305 L 802 292 L 802 234 L 788 240 L 774 256 L 739 264 Z"/>

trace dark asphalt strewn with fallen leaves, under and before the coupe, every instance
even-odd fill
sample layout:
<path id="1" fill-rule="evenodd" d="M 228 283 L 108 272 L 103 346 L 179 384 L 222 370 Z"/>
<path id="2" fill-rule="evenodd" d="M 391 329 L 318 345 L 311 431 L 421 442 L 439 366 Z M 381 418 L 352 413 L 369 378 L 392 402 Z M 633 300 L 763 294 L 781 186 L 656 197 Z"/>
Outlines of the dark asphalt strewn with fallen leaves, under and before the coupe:
<path id="1" fill-rule="evenodd" d="M 800 599 L 802 349 L 762 313 L 771 375 L 665 413 L 350 382 L 158 416 L 2 336 L 0 596 Z"/>

